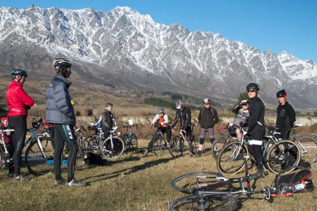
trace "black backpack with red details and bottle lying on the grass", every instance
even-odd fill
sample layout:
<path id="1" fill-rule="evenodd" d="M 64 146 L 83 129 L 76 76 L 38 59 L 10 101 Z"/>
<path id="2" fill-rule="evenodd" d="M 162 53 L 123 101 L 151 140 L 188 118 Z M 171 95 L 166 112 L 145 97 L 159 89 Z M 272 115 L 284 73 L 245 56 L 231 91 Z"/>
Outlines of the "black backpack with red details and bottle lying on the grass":
<path id="1" fill-rule="evenodd" d="M 275 188 L 278 194 L 284 193 L 285 190 L 291 190 L 292 193 L 301 191 L 311 191 L 315 189 L 313 181 L 309 179 L 313 173 L 309 168 L 302 166 L 295 166 L 295 172 L 289 173 L 286 175 L 281 175 L 283 172 L 286 172 L 288 169 L 280 171 L 275 177 L 274 183 Z M 303 189 L 298 190 L 298 184 L 303 184 Z"/>

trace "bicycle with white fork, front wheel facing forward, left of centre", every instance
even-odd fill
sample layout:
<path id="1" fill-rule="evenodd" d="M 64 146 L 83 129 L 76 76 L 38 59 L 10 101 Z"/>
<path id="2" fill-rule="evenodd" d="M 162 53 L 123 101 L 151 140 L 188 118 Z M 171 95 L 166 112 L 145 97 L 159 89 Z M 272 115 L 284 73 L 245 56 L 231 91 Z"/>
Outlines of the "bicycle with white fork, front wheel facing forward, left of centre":
<path id="1" fill-rule="evenodd" d="M 118 134 L 115 136 L 112 134 L 117 128 L 118 127 L 113 127 L 113 130 L 110 131 L 110 135 L 101 144 L 102 154 L 110 160 L 119 158 L 125 149 L 124 142 L 119 138 L 121 132 L 117 132 Z"/>

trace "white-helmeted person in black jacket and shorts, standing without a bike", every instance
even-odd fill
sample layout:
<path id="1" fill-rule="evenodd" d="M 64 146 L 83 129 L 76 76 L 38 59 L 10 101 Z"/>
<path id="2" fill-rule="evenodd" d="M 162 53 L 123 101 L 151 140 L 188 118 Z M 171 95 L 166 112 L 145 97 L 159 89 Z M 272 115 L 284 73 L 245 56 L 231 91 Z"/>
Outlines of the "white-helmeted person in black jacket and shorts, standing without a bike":
<path id="1" fill-rule="evenodd" d="M 198 115 L 198 122 L 200 124 L 200 140 L 199 148 L 196 153 L 196 157 L 200 157 L 203 150 L 203 144 L 205 141 L 206 133 L 208 132 L 211 144 L 214 141 L 214 131 L 213 127 L 219 122 L 218 112 L 210 106 L 210 99 L 205 98 L 203 100 L 205 107 L 202 108 Z"/>

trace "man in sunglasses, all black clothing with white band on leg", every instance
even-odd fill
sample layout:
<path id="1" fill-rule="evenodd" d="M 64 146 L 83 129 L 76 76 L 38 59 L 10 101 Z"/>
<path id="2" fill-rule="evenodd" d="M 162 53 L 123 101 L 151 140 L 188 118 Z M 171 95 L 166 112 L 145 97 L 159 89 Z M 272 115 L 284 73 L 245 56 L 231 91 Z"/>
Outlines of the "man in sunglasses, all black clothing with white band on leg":
<path id="1" fill-rule="evenodd" d="M 251 140 L 248 142 L 248 151 L 253 155 L 258 164 L 258 172 L 252 174 L 254 179 L 264 178 L 263 175 L 263 157 L 262 157 L 262 143 L 265 135 L 264 126 L 264 103 L 258 97 L 259 85 L 251 83 L 247 85 L 249 95 L 249 112 L 250 118 L 248 121 L 248 131 L 246 135 L 251 135 Z"/>

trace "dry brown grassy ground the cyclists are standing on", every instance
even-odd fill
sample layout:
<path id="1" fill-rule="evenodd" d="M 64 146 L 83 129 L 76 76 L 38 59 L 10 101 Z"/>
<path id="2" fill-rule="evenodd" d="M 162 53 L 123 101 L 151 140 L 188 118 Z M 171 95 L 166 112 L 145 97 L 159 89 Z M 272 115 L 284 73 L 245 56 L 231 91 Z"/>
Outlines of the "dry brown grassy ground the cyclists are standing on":
<path id="1" fill-rule="evenodd" d="M 148 141 L 139 140 L 141 148 Z M 207 144 L 210 148 L 210 144 Z M 6 178 L 7 170 L 0 170 L 0 210 L 3 211 L 166 211 L 168 202 L 184 194 L 172 189 L 170 182 L 185 173 L 216 171 L 210 152 L 201 158 L 185 157 L 172 160 L 168 153 L 161 157 L 150 153 L 128 153 L 117 161 L 108 161 L 105 167 L 81 166 L 77 161 L 75 176 L 90 186 L 70 188 L 53 186 L 54 175 L 33 178 L 31 181 L 12 181 Z M 23 168 L 27 173 L 27 169 Z M 254 171 L 254 169 L 253 169 Z M 316 174 L 316 164 L 313 165 Z M 252 173 L 252 172 L 251 172 Z M 66 172 L 63 173 L 66 177 Z M 258 180 L 257 187 L 269 186 L 274 179 L 269 174 Z M 314 182 L 317 180 L 313 176 Z M 315 191 L 316 192 L 316 191 Z M 316 211 L 315 192 L 298 193 L 293 198 L 278 197 L 273 204 L 256 198 L 242 199 L 241 211 Z"/>

